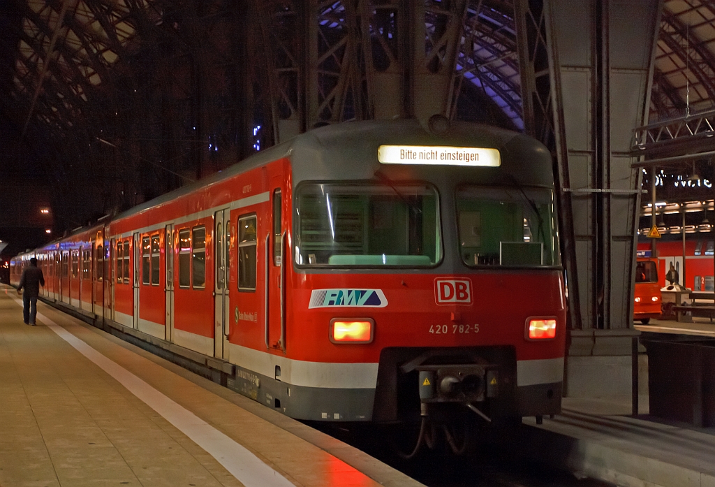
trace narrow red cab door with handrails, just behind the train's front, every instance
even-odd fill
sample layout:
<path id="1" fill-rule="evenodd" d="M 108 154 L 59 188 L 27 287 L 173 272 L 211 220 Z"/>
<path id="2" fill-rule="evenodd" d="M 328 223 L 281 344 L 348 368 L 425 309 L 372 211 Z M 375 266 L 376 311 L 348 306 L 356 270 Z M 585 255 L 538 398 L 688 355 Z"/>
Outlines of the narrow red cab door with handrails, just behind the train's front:
<path id="1" fill-rule="evenodd" d="M 279 348 L 285 352 L 285 267 L 282 266 L 285 233 L 282 232 L 280 191 L 282 177 L 273 177 L 272 182 L 275 189 L 271 192 L 270 215 L 267 218 L 270 224 L 266 225 L 268 235 L 265 240 L 268 291 L 266 309 L 269 323 L 266 341 L 270 348 Z"/>

